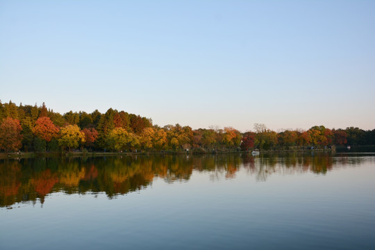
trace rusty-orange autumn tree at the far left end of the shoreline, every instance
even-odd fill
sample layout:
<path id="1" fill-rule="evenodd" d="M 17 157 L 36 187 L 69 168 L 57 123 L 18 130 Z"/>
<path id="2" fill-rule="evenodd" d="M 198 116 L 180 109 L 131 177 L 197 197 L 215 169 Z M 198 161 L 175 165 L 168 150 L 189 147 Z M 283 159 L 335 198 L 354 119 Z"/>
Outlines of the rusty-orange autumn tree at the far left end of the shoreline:
<path id="1" fill-rule="evenodd" d="M 22 147 L 22 127 L 18 119 L 7 117 L 0 125 L 0 149 L 17 151 Z"/>

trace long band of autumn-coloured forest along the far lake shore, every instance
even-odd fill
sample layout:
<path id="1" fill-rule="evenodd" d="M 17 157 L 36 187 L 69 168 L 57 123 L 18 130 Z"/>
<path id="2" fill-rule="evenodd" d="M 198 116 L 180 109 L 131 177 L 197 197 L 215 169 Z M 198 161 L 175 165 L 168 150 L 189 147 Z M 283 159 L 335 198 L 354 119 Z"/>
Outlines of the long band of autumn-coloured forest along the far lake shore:
<path id="1" fill-rule="evenodd" d="M 322 149 L 332 145 L 374 145 L 375 129 L 330 129 L 313 126 L 308 131 L 276 133 L 264 124 L 240 133 L 232 127 L 199 128 L 179 124 L 160 127 L 152 120 L 124 111 L 108 109 L 63 115 L 42 106 L 17 106 L 0 101 L 0 150 L 60 151 L 220 151 Z"/>

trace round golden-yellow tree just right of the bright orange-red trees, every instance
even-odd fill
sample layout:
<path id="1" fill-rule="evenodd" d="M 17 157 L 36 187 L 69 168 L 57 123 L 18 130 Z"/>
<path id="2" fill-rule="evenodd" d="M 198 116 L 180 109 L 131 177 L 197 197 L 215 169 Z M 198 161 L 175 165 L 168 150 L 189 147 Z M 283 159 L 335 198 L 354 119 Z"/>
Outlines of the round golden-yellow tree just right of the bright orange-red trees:
<path id="1" fill-rule="evenodd" d="M 80 131 L 76 124 L 61 128 L 60 138 L 58 139 L 60 147 L 67 147 L 70 151 L 76 149 L 83 142 L 85 142 L 85 134 Z"/>

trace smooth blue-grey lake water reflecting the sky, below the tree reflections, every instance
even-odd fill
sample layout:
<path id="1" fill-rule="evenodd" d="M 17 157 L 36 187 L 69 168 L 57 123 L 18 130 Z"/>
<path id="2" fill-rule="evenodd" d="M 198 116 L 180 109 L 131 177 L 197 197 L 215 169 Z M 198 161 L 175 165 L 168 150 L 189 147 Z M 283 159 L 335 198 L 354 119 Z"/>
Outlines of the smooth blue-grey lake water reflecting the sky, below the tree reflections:
<path id="1" fill-rule="evenodd" d="M 242 165 L 246 160 L 240 158 L 237 170 L 228 177 L 227 169 L 236 169 L 230 165 L 238 163 L 229 158 L 223 157 L 226 165 L 210 171 L 193 169 L 188 180 L 166 181 L 159 176 L 124 195 L 53 192 L 43 204 L 1 208 L 0 248 L 374 246 L 373 156 L 331 158 L 324 174 L 312 165 L 306 169 L 298 160 L 286 167 L 283 158 L 269 162 L 256 158 L 248 165 Z M 264 161 L 267 164 L 261 164 Z M 100 173 L 99 167 L 97 178 Z M 260 173 L 265 179 L 259 180 Z"/>

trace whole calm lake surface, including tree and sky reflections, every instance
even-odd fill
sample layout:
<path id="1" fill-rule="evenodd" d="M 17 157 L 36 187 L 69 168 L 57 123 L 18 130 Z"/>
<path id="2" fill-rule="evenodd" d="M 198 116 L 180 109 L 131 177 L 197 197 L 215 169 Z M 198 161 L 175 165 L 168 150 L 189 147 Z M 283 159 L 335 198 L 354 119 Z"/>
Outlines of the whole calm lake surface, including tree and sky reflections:
<path id="1" fill-rule="evenodd" d="M 0 249 L 375 249 L 375 154 L 0 161 Z"/>

